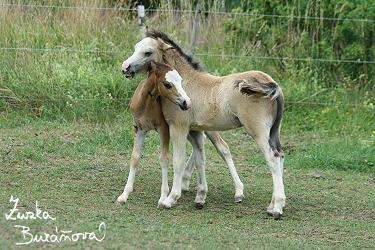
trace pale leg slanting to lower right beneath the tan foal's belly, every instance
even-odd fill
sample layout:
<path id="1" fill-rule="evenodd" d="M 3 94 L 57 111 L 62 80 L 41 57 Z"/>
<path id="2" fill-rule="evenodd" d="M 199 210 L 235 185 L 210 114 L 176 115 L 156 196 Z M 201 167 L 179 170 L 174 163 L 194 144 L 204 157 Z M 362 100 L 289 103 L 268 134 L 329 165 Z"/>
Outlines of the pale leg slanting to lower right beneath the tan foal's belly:
<path id="1" fill-rule="evenodd" d="M 223 158 L 229 168 L 230 175 L 232 176 L 234 188 L 236 193 L 234 194 L 235 202 L 242 202 L 244 199 L 243 195 L 243 183 L 237 174 L 236 167 L 234 166 L 232 155 L 229 151 L 228 144 L 221 138 L 217 131 L 205 131 L 212 144 L 216 147 L 217 152 Z"/>

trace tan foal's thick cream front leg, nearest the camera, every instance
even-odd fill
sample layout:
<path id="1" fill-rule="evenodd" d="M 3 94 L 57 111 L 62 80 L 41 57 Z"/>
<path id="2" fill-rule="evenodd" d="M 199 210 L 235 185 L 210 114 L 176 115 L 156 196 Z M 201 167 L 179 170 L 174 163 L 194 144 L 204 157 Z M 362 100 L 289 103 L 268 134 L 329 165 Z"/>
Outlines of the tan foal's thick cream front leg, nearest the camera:
<path id="1" fill-rule="evenodd" d="M 169 196 L 160 204 L 160 207 L 171 208 L 181 196 L 181 182 L 185 164 L 186 137 L 188 132 L 188 130 L 170 127 L 173 144 L 173 185 Z"/>

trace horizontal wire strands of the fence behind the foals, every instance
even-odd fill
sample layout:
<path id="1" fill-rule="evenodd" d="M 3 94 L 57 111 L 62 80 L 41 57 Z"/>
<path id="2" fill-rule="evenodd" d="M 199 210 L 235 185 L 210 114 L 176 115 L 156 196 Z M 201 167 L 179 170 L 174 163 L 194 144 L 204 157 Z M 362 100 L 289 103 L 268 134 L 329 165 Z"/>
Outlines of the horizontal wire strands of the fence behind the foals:
<path id="1" fill-rule="evenodd" d="M 112 8 L 112 7 L 90 7 L 90 6 L 54 6 L 54 5 L 35 5 L 35 4 L 5 4 L 1 3 L 2 7 L 28 7 L 28 8 L 49 8 L 49 9 L 83 9 L 83 10 L 105 10 L 105 11 L 137 11 L 136 8 Z M 195 13 L 194 10 L 163 10 L 163 9 L 146 9 L 146 12 L 175 12 L 175 13 Z M 375 20 L 368 19 L 352 19 L 352 18 L 330 18 L 330 17 L 312 17 L 312 16 L 287 16 L 287 15 L 272 15 L 272 14 L 251 14 L 251 13 L 239 13 L 239 12 L 213 12 L 213 11 L 202 11 L 208 15 L 239 15 L 239 16 L 250 16 L 258 18 L 286 18 L 286 19 L 306 19 L 306 20 L 328 20 L 328 21 L 348 21 L 348 22 L 367 22 L 375 23 Z M 53 48 L 1 48 L 0 51 L 34 51 L 34 52 L 54 52 L 54 53 L 118 53 L 118 54 L 132 54 L 132 51 L 118 51 L 118 50 L 78 50 L 78 49 L 53 49 Z M 232 54 L 195 54 L 198 57 L 231 57 L 231 58 L 245 58 L 245 59 L 267 59 L 267 60 L 291 60 L 291 61 L 310 61 L 310 62 L 327 62 L 327 63 L 357 63 L 357 64 L 375 64 L 375 61 L 362 61 L 358 60 L 339 60 L 339 59 L 319 59 L 319 58 L 291 58 L 291 57 L 270 57 L 270 56 L 239 56 Z M 1 90 L 1 89 L 0 89 Z M 9 92 L 9 91 L 7 91 Z M 1 91 L 0 91 L 1 93 Z M 1 96 L 0 98 L 12 97 Z M 14 101 L 32 101 L 32 99 L 15 98 Z M 129 101 L 131 98 L 101 98 L 101 99 L 90 99 L 90 98 L 78 98 L 78 99 L 67 99 L 66 101 L 82 102 L 82 101 Z M 53 100 L 46 100 L 53 101 Z M 291 105 L 321 105 L 321 106 L 363 106 L 363 104 L 342 104 L 342 103 L 326 103 L 326 102 L 285 102 Z"/>

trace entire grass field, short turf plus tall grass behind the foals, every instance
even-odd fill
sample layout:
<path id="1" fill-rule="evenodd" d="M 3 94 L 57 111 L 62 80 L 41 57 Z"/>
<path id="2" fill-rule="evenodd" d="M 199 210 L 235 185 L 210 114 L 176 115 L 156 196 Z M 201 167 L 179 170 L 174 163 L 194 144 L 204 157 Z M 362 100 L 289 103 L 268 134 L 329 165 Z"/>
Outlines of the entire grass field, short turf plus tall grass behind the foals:
<path id="1" fill-rule="evenodd" d="M 43 1 L 47 3 L 60 4 Z M 102 6 L 96 0 L 90 4 Z M 375 248 L 372 76 L 353 79 L 340 72 L 340 81 L 333 85 L 328 84 L 332 82 L 328 74 L 311 62 L 198 56 L 212 74 L 257 69 L 281 84 L 286 101 L 281 141 L 287 196 L 282 219 L 266 215 L 271 173 L 255 142 L 241 128 L 220 134 L 245 185 L 243 203 L 234 203 L 229 171 L 207 141 L 205 207 L 194 207 L 194 173 L 190 190 L 177 206 L 158 210 L 159 139 L 149 133 L 135 190 L 127 204 L 117 205 L 133 146 L 127 98 L 145 77 L 129 81 L 120 72 L 139 40 L 136 20 L 121 11 L 2 10 L 6 39 L 0 39 L 0 47 L 49 50 L 0 52 L 1 249 L 18 248 L 17 243 L 27 243 L 31 237 L 45 240 L 46 234 L 49 242 L 23 248 Z M 147 23 L 188 48 L 191 20 L 190 14 L 157 13 Z M 202 16 L 196 53 L 230 53 L 220 22 Z M 244 55 L 257 52 L 247 45 Z M 88 52 L 92 50 L 114 52 Z M 170 187 L 172 176 L 170 168 Z M 11 197 L 19 199 L 19 210 L 13 210 Z M 29 219 L 17 219 L 18 212 Z M 41 219 L 31 219 L 31 212 Z M 97 241 L 92 232 L 99 240 L 105 237 Z M 61 235 L 64 242 L 51 242 Z"/>

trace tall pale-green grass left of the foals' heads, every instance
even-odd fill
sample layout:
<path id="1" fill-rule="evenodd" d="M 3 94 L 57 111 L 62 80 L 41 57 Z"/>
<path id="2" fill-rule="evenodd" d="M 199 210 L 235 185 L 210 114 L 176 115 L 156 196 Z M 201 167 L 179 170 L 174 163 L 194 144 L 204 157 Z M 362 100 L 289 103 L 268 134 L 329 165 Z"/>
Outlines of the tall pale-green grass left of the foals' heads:
<path id="1" fill-rule="evenodd" d="M 121 73 L 121 63 L 138 39 L 132 29 L 124 29 L 131 22 L 128 17 L 33 7 L 5 9 L 4 15 L 1 47 L 42 50 L 1 51 L 1 111 L 88 120 L 126 112 L 141 80 L 130 82 Z"/>

